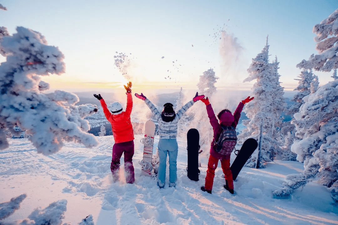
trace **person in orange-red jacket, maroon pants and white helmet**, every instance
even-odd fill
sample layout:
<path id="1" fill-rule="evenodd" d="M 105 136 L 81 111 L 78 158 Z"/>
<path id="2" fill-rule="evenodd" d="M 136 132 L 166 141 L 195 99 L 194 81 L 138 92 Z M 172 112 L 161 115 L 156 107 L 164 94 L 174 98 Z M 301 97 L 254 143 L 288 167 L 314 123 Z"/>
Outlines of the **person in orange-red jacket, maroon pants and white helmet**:
<path id="1" fill-rule="evenodd" d="M 132 164 L 132 157 L 134 156 L 134 131 L 132 130 L 130 121 L 130 113 L 132 110 L 131 82 L 129 82 L 127 86 L 124 85 L 124 88 L 127 90 L 126 111 L 122 111 L 122 106 L 118 102 L 113 103 L 109 111 L 101 94 L 94 94 L 94 97 L 100 100 L 103 113 L 112 124 L 115 143 L 110 169 L 113 174 L 113 180 L 114 182 L 119 180 L 120 158 L 124 153 L 125 179 L 128 184 L 133 184 L 135 181 L 135 172 Z"/>

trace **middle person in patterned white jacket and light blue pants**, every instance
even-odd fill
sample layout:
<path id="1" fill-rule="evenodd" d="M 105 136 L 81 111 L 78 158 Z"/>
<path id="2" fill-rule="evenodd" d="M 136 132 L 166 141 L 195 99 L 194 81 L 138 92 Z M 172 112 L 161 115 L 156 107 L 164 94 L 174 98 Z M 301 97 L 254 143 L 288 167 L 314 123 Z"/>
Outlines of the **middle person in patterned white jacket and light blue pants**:
<path id="1" fill-rule="evenodd" d="M 141 93 L 135 94 L 136 97 L 143 100 L 149 107 L 151 112 L 155 115 L 155 119 L 158 121 L 158 129 L 160 140 L 158 144 L 160 165 L 158 170 L 158 181 L 157 185 L 160 188 L 164 188 L 166 180 L 166 161 L 167 155 L 169 156 L 169 187 L 175 187 L 177 179 L 177 123 L 178 120 L 187 112 L 187 110 L 194 105 L 195 102 L 202 99 L 204 95 L 198 95 L 196 92 L 195 97 L 185 104 L 177 113 L 173 109 L 171 103 L 166 103 L 163 106 L 162 112 L 160 112 L 154 104 L 152 104 L 146 96 Z"/>

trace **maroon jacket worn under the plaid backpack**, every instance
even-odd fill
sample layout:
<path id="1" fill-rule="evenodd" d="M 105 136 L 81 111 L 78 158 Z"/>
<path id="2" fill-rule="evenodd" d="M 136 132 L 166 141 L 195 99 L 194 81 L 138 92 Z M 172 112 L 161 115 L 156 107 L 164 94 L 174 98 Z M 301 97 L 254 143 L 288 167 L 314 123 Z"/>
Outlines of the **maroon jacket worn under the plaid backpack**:
<path id="1" fill-rule="evenodd" d="M 244 107 L 244 104 L 240 102 L 237 106 L 237 109 L 234 112 L 235 120 L 231 125 L 235 129 L 236 129 L 236 126 L 238 124 L 239 118 L 241 117 L 241 112 L 242 112 L 243 107 Z M 210 119 L 210 124 L 211 124 L 211 126 L 214 130 L 214 139 L 211 142 L 210 154 L 213 157 L 215 157 L 216 159 L 220 159 L 220 160 L 230 159 L 230 155 L 222 155 L 215 150 L 214 142 L 215 142 L 215 140 L 218 140 L 219 136 L 221 135 L 222 128 L 221 128 L 221 125 L 218 122 L 217 117 L 215 116 L 215 113 L 214 113 L 214 110 L 213 110 L 211 104 L 207 105 L 207 113 L 208 113 L 208 117 Z"/>

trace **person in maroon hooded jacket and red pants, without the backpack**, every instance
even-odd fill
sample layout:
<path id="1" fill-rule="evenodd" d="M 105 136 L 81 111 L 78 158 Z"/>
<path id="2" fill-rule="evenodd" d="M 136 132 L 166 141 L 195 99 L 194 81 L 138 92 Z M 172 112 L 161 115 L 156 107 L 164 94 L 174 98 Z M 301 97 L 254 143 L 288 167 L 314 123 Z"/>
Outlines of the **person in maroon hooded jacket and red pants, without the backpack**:
<path id="1" fill-rule="evenodd" d="M 208 117 L 210 119 L 210 123 L 214 131 L 214 140 L 211 142 L 206 183 L 205 183 L 205 186 L 201 187 L 202 191 L 206 191 L 211 194 L 212 186 L 214 183 L 215 170 L 218 165 L 218 160 L 220 160 L 221 167 L 222 167 L 224 177 L 225 177 L 224 188 L 228 190 L 231 194 L 234 194 L 234 181 L 232 177 L 232 172 L 230 170 L 230 154 L 223 155 L 223 154 L 218 153 L 215 150 L 215 140 L 218 140 L 222 133 L 221 125 L 232 126 L 233 128 L 236 129 L 239 118 L 241 117 L 241 112 L 244 107 L 244 104 L 250 102 L 252 99 L 254 99 L 254 97 L 250 99 L 250 96 L 249 96 L 245 100 L 240 102 L 234 114 L 232 114 L 231 111 L 228 109 L 223 109 L 222 111 L 220 111 L 217 115 L 219 122 L 215 116 L 213 108 L 211 107 L 208 97 L 207 99 L 204 99 L 204 98 L 201 99 L 201 101 L 204 104 L 206 104 Z"/>

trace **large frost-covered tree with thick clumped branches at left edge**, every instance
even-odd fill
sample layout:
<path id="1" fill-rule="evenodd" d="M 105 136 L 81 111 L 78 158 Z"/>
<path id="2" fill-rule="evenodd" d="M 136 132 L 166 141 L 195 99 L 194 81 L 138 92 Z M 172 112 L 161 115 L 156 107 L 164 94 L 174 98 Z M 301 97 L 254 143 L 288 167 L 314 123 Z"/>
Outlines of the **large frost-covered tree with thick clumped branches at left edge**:
<path id="1" fill-rule="evenodd" d="M 97 106 L 76 106 L 79 98 L 66 91 L 47 93 L 49 84 L 41 80 L 41 76 L 65 72 L 64 55 L 48 46 L 41 33 L 24 27 L 16 30 L 13 35 L 1 32 L 0 38 L 6 57 L 0 65 L 0 149 L 8 147 L 6 130 L 21 135 L 15 126 L 43 154 L 57 152 L 65 141 L 96 146 L 96 138 L 87 133 L 89 122 L 83 118 L 95 113 Z"/>

